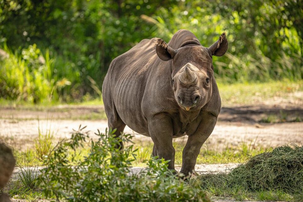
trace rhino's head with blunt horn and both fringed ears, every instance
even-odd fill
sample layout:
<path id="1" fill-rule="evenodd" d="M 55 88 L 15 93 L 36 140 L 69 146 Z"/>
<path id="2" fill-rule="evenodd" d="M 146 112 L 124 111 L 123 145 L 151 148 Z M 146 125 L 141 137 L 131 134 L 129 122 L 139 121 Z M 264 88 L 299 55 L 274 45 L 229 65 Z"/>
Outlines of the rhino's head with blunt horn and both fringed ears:
<path id="1" fill-rule="evenodd" d="M 171 62 L 171 86 L 178 105 L 186 111 L 201 109 L 212 96 L 212 56 L 222 56 L 227 51 L 225 33 L 210 47 L 188 44 L 174 50 L 159 40 L 156 52 L 160 59 Z"/>

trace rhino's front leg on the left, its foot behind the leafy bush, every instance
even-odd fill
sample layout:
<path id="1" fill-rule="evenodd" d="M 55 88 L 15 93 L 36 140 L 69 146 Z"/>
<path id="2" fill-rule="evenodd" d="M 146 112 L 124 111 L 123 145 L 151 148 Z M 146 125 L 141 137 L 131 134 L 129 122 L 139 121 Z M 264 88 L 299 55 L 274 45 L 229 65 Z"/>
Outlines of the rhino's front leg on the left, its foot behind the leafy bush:
<path id="1" fill-rule="evenodd" d="M 148 131 L 154 142 L 153 156 L 169 160 L 168 169 L 175 169 L 172 121 L 165 114 L 157 114 L 148 121 Z"/>

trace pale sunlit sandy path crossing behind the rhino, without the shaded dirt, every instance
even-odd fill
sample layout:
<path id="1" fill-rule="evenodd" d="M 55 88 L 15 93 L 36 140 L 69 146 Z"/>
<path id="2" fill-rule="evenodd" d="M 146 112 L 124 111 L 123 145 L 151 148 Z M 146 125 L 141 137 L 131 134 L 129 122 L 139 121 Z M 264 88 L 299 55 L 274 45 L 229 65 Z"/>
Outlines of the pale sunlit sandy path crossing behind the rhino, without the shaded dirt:
<path id="1" fill-rule="evenodd" d="M 99 129 L 101 132 L 107 128 L 107 121 L 98 120 L 21 120 L 0 119 L 0 138 L 18 149 L 26 149 L 33 146 L 38 136 L 38 126 L 42 131 L 51 128 L 56 139 L 69 138 L 73 129 L 79 125 L 87 126 L 91 134 Z M 130 128 L 125 128 L 125 133 L 135 135 L 135 140 L 150 141 L 149 137 L 135 133 Z M 92 135 L 93 137 L 93 135 Z M 175 139 L 185 141 L 186 137 Z M 218 122 L 206 145 L 218 148 L 226 145 L 240 145 L 242 143 L 255 143 L 255 146 L 276 147 L 278 145 L 295 143 L 303 145 L 303 123 L 275 123 L 254 124 L 241 122 Z"/>

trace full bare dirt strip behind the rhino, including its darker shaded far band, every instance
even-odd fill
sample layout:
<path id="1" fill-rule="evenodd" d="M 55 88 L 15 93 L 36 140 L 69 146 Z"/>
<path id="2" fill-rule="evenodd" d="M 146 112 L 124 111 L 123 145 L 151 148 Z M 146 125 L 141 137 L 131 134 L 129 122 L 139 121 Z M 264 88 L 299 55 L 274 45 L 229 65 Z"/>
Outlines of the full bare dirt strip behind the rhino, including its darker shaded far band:
<path id="1" fill-rule="evenodd" d="M 103 106 L 65 106 L 65 108 L 56 106 L 48 108 L 47 111 L 0 107 L 0 138 L 16 149 L 26 150 L 33 147 L 39 127 L 44 133 L 47 129 L 51 129 L 58 140 L 69 138 L 73 129 L 78 129 L 80 124 L 87 126 L 87 130 L 93 135 L 97 129 L 101 132 L 105 131 L 107 120 L 99 118 L 71 120 L 71 118 L 102 112 L 104 113 Z M 264 117 L 274 114 L 277 116 L 283 114 L 286 122 L 260 122 Z M 266 105 L 223 107 L 217 125 L 205 145 L 218 147 L 216 149 L 243 143 L 266 148 L 290 143 L 303 145 L 303 122 L 287 122 L 290 116 L 303 117 L 303 108 Z M 149 137 L 137 134 L 128 127 L 124 132 L 134 134 L 135 141 L 151 141 Z M 174 141 L 186 141 L 186 138 L 181 137 Z"/>

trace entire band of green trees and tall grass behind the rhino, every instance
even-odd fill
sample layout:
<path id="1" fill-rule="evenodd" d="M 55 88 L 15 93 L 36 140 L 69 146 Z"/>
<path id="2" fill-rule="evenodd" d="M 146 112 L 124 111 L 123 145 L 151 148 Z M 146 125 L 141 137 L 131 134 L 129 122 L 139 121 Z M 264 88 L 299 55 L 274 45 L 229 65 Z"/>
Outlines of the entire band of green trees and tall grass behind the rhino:
<path id="1" fill-rule="evenodd" d="M 179 29 L 210 46 L 221 82 L 302 79 L 303 3 L 221 0 L 0 0 L 0 97 L 81 101 L 101 95 L 111 60 Z"/>

